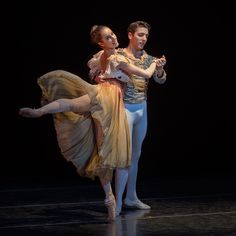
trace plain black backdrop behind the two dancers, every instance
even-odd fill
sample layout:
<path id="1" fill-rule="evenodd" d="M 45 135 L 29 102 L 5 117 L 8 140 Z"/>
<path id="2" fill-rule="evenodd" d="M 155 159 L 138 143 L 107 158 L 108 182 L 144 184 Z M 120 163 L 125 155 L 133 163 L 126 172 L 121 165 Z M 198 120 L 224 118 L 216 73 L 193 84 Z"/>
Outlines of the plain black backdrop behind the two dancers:
<path id="1" fill-rule="evenodd" d="M 98 50 L 89 42 L 92 25 L 110 26 L 125 47 L 126 28 L 136 20 L 152 26 L 145 50 L 166 56 L 168 74 L 163 85 L 150 82 L 139 176 L 235 176 L 233 7 L 189 2 L 10 4 L 1 179 L 83 181 L 60 154 L 52 117 L 26 119 L 18 109 L 40 105 L 36 79 L 50 70 L 88 80 L 86 63 Z"/>

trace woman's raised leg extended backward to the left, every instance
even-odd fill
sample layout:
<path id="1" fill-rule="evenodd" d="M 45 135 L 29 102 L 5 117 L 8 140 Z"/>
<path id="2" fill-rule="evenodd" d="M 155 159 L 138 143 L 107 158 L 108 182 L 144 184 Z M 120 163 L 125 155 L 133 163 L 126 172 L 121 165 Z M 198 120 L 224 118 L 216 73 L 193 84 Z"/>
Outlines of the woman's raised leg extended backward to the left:
<path id="1" fill-rule="evenodd" d="M 61 98 L 48 103 L 47 105 L 38 109 L 24 107 L 19 110 L 19 114 L 28 118 L 37 118 L 45 114 L 53 114 L 66 111 L 83 113 L 89 111 L 90 108 L 91 99 L 88 95 L 84 95 L 74 99 Z"/>

